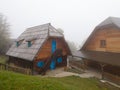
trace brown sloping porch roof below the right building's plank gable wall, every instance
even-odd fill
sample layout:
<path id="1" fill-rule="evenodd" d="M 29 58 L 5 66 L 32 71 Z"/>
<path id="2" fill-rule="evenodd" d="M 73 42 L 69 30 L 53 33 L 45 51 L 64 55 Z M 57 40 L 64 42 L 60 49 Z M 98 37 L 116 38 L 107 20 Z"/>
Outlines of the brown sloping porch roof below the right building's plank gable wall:
<path id="1" fill-rule="evenodd" d="M 113 66 L 120 66 L 120 53 L 101 51 L 76 51 L 73 52 L 73 56 Z"/>

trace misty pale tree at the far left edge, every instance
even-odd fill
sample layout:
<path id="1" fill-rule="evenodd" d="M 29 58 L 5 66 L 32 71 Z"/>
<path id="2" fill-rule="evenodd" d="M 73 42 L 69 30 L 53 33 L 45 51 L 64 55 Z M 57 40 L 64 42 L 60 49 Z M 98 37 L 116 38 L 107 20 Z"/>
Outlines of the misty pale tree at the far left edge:
<path id="1" fill-rule="evenodd" d="M 10 42 L 10 29 L 6 17 L 0 13 L 0 54 L 5 54 Z"/>

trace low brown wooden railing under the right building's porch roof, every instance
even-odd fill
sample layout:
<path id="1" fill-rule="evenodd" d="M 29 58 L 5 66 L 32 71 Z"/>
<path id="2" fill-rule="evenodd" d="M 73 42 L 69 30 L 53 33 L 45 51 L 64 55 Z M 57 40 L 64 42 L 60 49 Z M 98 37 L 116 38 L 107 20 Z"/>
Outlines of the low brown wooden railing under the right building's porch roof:
<path id="1" fill-rule="evenodd" d="M 114 83 L 117 83 L 120 85 L 120 76 L 116 76 L 107 72 L 103 72 L 103 77 L 104 79 L 108 80 L 108 81 L 112 81 Z"/>

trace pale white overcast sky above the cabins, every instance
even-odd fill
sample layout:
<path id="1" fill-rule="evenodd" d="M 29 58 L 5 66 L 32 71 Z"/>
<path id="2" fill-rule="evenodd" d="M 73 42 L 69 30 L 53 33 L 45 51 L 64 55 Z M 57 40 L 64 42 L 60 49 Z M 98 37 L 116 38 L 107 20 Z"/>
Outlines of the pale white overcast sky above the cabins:
<path id="1" fill-rule="evenodd" d="M 81 44 L 101 21 L 120 17 L 120 0 L 0 0 L 12 38 L 26 28 L 51 23 L 67 40 Z"/>

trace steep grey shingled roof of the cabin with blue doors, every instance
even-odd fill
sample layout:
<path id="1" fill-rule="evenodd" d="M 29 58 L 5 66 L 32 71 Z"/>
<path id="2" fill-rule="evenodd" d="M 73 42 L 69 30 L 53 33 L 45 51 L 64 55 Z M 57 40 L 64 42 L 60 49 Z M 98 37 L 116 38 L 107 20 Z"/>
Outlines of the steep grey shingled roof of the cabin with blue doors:
<path id="1" fill-rule="evenodd" d="M 64 37 L 64 35 L 51 26 L 50 23 L 28 28 L 16 40 L 22 40 L 20 46 L 17 47 L 16 42 L 14 42 L 6 55 L 32 61 L 49 36 Z M 31 47 L 27 47 L 27 41 L 34 39 L 34 44 Z"/>

